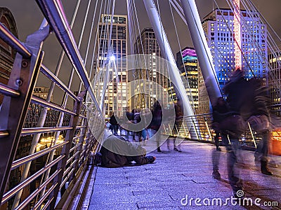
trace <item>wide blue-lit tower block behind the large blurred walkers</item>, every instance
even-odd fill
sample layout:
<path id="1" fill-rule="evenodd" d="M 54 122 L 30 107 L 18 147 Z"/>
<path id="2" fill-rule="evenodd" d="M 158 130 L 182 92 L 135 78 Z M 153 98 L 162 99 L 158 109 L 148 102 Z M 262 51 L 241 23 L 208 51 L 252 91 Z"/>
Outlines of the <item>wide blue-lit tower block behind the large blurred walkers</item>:
<path id="1" fill-rule="evenodd" d="M 235 70 L 235 38 L 233 38 L 233 11 L 215 9 L 202 21 L 207 43 L 213 57 L 214 69 L 219 86 L 223 87 Z M 259 13 L 241 10 L 241 53 L 242 69 L 246 78 L 263 78 L 267 80 L 268 57 L 267 27 L 261 23 Z M 200 78 L 200 77 L 199 77 Z M 200 83 L 200 81 L 199 81 Z M 206 88 L 204 85 L 200 88 Z M 205 91 L 199 90 L 204 93 Z M 204 97 L 204 95 L 199 95 Z M 200 99 L 203 104 L 204 102 Z M 199 104 L 199 106 L 201 106 Z"/>

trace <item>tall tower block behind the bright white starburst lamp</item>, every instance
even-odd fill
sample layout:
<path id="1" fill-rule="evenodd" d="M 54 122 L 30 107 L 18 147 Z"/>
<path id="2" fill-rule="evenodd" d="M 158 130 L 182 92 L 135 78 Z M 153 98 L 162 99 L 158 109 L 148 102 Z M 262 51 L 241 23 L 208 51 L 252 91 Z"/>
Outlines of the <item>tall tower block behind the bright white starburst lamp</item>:
<path id="1" fill-rule="evenodd" d="M 96 76 L 99 78 L 96 78 L 98 82 L 94 88 L 97 99 L 103 98 L 105 94 L 102 106 L 104 106 L 105 118 L 110 118 L 114 111 L 122 113 L 128 106 L 127 64 L 122 59 L 127 55 L 127 16 L 113 15 L 111 18 L 111 15 L 102 15 L 98 24 L 97 45 Z M 108 82 L 107 87 L 103 86 L 105 80 Z M 104 88 L 107 90 L 105 91 Z"/>

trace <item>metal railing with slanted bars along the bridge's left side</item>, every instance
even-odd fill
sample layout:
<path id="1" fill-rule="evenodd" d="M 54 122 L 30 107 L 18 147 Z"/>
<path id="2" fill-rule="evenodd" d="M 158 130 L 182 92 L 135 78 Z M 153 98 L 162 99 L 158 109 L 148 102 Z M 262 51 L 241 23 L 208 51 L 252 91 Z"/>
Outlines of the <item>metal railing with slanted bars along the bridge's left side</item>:
<path id="1" fill-rule="evenodd" d="M 48 2 L 37 1 L 48 24 L 44 21 L 25 43 L 0 23 L 0 38 L 17 51 L 8 84 L 0 83 L 0 94 L 4 94 L 0 209 L 55 209 L 61 205 L 65 190 L 86 171 L 91 151 L 98 151 L 103 139 L 103 115 L 72 29 L 58 2 Z M 67 55 L 68 66 L 72 64 L 68 83 L 63 82 L 65 76 L 58 77 L 60 64 L 55 73 L 42 64 L 42 47 L 51 30 L 63 48 L 61 55 Z M 79 78 L 78 94 L 71 87 L 73 69 Z M 33 94 L 34 87 L 41 86 L 39 74 L 51 83 L 46 99 Z M 61 95 L 61 104 L 51 102 Z"/>

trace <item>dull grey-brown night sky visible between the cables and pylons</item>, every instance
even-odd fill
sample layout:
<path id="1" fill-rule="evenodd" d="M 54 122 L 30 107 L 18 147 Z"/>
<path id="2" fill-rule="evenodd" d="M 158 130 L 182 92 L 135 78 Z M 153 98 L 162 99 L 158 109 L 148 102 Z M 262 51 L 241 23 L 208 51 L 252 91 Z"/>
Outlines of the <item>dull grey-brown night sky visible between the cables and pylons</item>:
<path id="1" fill-rule="evenodd" d="M 98 0 L 100 2 L 100 0 Z M 157 1 L 157 0 L 155 0 Z M 176 38 L 176 33 L 174 30 L 174 24 L 172 22 L 169 3 L 167 0 L 158 0 L 160 3 L 160 14 L 162 17 L 162 22 L 164 28 L 166 29 L 167 36 L 169 38 L 169 43 L 171 45 L 171 49 L 174 54 L 180 50 L 178 46 L 178 41 Z M 259 8 L 260 12 L 266 18 L 266 20 L 270 23 L 270 25 L 275 29 L 276 33 L 281 35 L 281 0 L 252 0 L 254 4 Z M 195 0 L 197 3 L 197 8 L 200 13 L 200 18 L 204 18 L 205 15 L 211 12 L 213 6 L 216 8 L 216 3 L 212 0 Z M 223 0 L 216 0 L 218 6 L 220 8 L 228 8 L 228 4 Z M 70 22 L 72 13 L 74 10 L 76 1 L 63 1 L 63 5 L 65 6 L 65 13 L 67 14 L 67 18 Z M 81 25 L 84 19 L 84 13 L 86 10 L 86 4 L 88 1 L 81 1 L 81 9 L 78 11 L 77 21 L 74 26 L 74 37 L 76 41 L 79 40 L 79 32 L 81 29 Z M 92 1 L 91 8 L 93 9 L 96 1 Z M 144 27 L 150 27 L 150 22 L 148 20 L 148 16 L 146 14 L 145 7 L 143 6 L 143 1 L 136 0 L 136 8 L 138 12 L 139 24 L 141 30 Z M 15 18 L 15 22 L 18 27 L 18 34 L 20 41 L 25 41 L 25 38 L 28 34 L 32 34 L 33 31 L 36 31 L 41 21 L 43 20 L 43 15 L 41 14 L 41 10 L 39 10 L 39 6 L 37 6 L 36 1 L 34 0 L 25 0 L 25 1 L 15 1 L 15 0 L 1 0 L 1 7 L 7 7 L 13 13 Z M 115 14 L 126 15 L 126 0 L 116 0 L 115 3 Z M 185 46 L 192 46 L 192 41 L 190 40 L 190 35 L 188 31 L 188 27 L 184 24 L 184 22 L 179 18 L 179 16 L 174 12 L 174 16 L 176 18 L 176 25 L 178 30 L 178 35 L 180 37 L 181 48 L 185 48 Z M 91 19 L 91 18 L 90 18 Z M 91 25 L 91 21 L 89 21 L 88 28 Z M 89 31 L 85 31 L 86 34 L 89 34 Z M 86 38 L 84 38 L 83 43 L 81 45 L 81 56 L 84 57 L 85 49 L 86 49 Z M 280 44 L 280 43 L 279 43 Z M 44 65 L 54 71 L 55 66 L 58 62 L 58 55 L 60 53 L 59 43 L 55 41 L 54 35 L 52 34 L 44 43 L 44 50 L 46 51 L 46 55 L 44 57 Z M 51 53 L 50 53 L 51 52 Z M 90 62 L 89 62 L 90 63 Z M 88 67 L 89 64 L 86 64 Z M 65 67 L 67 68 L 67 67 Z M 63 72 L 63 71 L 62 71 Z M 40 78 L 39 78 L 40 79 Z M 44 80 L 42 80 L 44 83 Z"/>

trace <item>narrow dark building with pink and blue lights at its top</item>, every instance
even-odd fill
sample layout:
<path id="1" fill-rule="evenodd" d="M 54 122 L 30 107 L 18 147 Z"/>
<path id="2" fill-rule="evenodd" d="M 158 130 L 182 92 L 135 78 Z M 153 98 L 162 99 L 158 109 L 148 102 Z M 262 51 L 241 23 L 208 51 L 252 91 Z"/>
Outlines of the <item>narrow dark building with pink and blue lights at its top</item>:
<path id="1" fill-rule="evenodd" d="M 183 85 L 191 106 L 197 113 L 198 109 L 198 63 L 197 55 L 194 48 L 186 47 L 176 53 L 176 66 L 181 72 Z M 187 83 L 188 82 L 188 83 Z"/>

